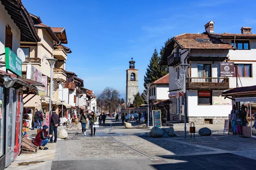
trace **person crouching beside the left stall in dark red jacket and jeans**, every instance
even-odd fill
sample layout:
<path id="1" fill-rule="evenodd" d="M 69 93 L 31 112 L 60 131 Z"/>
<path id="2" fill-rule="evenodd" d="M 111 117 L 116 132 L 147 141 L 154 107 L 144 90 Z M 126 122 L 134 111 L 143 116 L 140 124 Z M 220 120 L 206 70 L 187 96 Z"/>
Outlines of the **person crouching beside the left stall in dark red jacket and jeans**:
<path id="1" fill-rule="evenodd" d="M 48 136 L 48 130 L 49 127 L 47 125 L 44 125 L 43 129 L 41 129 L 35 136 L 34 144 L 39 146 L 39 149 L 41 150 L 48 149 L 46 145 L 49 142 L 49 139 L 52 137 L 52 135 Z"/>

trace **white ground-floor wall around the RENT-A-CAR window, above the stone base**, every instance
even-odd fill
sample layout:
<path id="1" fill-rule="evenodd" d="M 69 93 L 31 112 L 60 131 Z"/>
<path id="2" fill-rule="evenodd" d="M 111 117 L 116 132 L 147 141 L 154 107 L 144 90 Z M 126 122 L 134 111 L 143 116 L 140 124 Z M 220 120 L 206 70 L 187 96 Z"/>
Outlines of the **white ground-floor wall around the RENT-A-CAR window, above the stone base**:
<path id="1" fill-rule="evenodd" d="M 232 110 L 232 105 L 198 105 L 198 91 L 188 92 L 188 116 L 228 116 Z M 222 93 L 223 91 L 212 91 L 212 93 Z M 212 99 L 213 102 L 213 99 Z"/>

